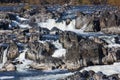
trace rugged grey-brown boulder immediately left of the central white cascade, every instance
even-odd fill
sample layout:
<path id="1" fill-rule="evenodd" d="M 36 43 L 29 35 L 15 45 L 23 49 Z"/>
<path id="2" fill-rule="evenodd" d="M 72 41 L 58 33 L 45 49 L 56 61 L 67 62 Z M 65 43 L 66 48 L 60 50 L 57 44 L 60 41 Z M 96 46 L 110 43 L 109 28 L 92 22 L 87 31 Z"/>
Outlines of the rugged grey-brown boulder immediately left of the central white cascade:
<path id="1" fill-rule="evenodd" d="M 39 63 L 40 60 L 54 53 L 55 47 L 49 43 L 30 42 L 28 43 L 29 50 L 26 53 L 26 58 Z"/>

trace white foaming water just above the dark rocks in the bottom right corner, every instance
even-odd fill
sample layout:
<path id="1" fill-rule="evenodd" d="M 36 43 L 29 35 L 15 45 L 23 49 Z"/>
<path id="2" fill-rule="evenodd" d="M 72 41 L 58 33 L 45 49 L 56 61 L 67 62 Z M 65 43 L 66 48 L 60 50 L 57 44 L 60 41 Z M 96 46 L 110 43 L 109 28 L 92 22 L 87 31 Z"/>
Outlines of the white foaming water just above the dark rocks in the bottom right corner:
<path id="1" fill-rule="evenodd" d="M 99 66 L 90 66 L 90 67 L 85 67 L 81 70 L 93 70 L 95 72 L 103 72 L 106 75 L 112 75 L 112 74 L 119 74 L 120 73 L 120 62 L 119 63 L 114 63 L 113 65 L 99 65 Z"/>

